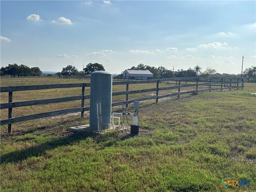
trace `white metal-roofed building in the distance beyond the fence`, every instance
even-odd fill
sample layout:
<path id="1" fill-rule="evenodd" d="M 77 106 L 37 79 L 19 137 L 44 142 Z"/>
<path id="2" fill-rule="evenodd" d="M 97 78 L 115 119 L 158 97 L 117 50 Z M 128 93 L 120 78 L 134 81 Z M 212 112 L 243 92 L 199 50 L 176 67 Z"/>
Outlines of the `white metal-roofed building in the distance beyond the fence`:
<path id="1" fill-rule="evenodd" d="M 126 79 L 149 79 L 153 78 L 153 73 L 149 70 L 134 70 L 134 69 L 125 69 L 123 73 L 123 78 Z"/>

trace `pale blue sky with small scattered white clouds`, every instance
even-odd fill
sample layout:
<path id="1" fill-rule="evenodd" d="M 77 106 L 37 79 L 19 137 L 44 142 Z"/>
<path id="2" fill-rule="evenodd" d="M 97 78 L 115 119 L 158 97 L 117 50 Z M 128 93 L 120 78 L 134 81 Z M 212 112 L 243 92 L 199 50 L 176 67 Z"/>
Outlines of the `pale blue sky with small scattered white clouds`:
<path id="1" fill-rule="evenodd" d="M 255 1 L 1 1 L 1 66 L 256 65 Z"/>

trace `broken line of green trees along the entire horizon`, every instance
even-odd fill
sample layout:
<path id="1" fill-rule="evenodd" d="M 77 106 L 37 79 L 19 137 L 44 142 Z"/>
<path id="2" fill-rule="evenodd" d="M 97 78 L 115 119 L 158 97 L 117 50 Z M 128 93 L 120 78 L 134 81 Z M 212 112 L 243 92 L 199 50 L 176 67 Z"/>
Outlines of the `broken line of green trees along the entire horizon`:
<path id="1" fill-rule="evenodd" d="M 167 69 L 163 66 L 153 67 L 144 65 L 140 63 L 137 67 L 133 66 L 131 69 L 135 70 L 146 70 L 148 69 L 151 73 L 153 73 L 154 78 L 171 78 L 171 77 L 230 77 L 230 78 L 239 78 L 241 75 L 237 74 L 220 74 L 217 73 L 215 69 L 206 68 L 202 69 L 200 66 L 195 66 L 194 68 L 188 68 L 187 70 L 178 69 L 177 71 Z M 68 65 L 67 67 L 62 68 L 61 72 L 56 73 L 58 76 L 84 76 L 90 75 L 94 71 L 103 70 L 105 68 L 100 63 L 89 63 L 82 71 L 78 71 L 75 66 Z M 27 76 L 41 76 L 42 71 L 38 67 L 28 67 L 26 65 L 17 65 L 9 64 L 6 67 L 1 67 L 1 76 L 10 75 L 11 77 L 27 77 Z M 119 77 L 123 77 L 123 72 L 119 75 Z M 250 81 L 251 78 L 256 78 L 256 66 L 251 66 L 246 68 L 243 71 L 243 77 L 247 78 L 247 82 Z"/>

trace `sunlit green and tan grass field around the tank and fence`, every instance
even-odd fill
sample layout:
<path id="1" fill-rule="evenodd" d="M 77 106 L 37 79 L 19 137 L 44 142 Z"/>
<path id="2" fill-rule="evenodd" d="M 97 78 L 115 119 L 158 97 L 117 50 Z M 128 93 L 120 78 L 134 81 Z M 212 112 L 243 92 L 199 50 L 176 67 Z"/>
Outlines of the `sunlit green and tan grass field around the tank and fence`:
<path id="1" fill-rule="evenodd" d="M 38 78 L 31 81 L 45 83 Z M 45 84 L 60 83 L 54 81 Z M 27 82 L 1 79 L 1 86 Z M 134 85 L 131 90 L 145 85 L 155 87 Z M 44 91 L 48 90 L 37 92 L 49 98 Z M 80 93 L 79 89 L 72 94 L 70 89 L 50 92 L 52 98 Z M 1 191 L 255 191 L 256 96 L 250 93 L 256 93 L 256 84 L 246 83 L 244 90 L 182 95 L 157 104 L 143 102 L 140 133 L 135 137 L 119 131 L 70 133 L 68 127 L 89 123 L 88 116 L 81 119 L 79 114 L 17 123 L 12 135 L 2 126 Z M 14 93 L 14 101 L 26 98 L 38 99 L 38 93 Z M 1 94 L 1 102 L 4 99 Z M 250 186 L 223 188 L 221 179 L 250 180 Z"/>

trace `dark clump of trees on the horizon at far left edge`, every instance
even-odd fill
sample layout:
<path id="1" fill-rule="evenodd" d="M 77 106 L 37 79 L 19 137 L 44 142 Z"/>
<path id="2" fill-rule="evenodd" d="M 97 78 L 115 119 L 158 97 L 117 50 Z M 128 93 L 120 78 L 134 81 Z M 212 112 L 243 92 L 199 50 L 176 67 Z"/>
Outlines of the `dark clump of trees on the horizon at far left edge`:
<path id="1" fill-rule="evenodd" d="M 9 64 L 6 67 L 1 67 L 1 76 L 10 75 L 11 77 L 28 77 L 41 76 L 42 71 L 38 67 L 28 67 L 26 65 Z"/>

